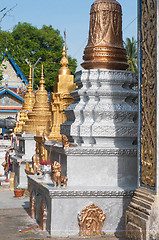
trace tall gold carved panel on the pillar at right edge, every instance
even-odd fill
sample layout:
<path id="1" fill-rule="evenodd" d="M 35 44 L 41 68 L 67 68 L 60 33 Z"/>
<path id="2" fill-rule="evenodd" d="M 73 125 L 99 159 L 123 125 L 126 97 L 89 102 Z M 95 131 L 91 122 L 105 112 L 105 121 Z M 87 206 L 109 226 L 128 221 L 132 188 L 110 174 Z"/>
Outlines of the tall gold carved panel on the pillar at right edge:
<path id="1" fill-rule="evenodd" d="M 156 178 L 156 1 L 142 0 L 141 180 L 155 187 Z"/>

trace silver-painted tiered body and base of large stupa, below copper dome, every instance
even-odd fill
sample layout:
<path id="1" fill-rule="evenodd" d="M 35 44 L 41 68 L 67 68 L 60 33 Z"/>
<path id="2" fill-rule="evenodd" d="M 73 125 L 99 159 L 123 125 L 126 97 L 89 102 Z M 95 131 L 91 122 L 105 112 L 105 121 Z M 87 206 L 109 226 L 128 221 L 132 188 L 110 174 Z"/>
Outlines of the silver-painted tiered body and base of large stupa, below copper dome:
<path id="1" fill-rule="evenodd" d="M 78 89 L 71 93 L 75 102 L 66 109 L 67 121 L 61 126 L 61 133 L 74 144 L 65 148 L 65 144 L 45 143 L 48 152 L 51 149 L 51 161 L 58 161 L 61 174 L 68 178 L 67 188 L 29 177 L 36 217 L 42 199 L 46 229 L 66 237 L 80 234 L 78 216 L 85 209 L 92 216 L 91 206 L 95 206 L 106 216 L 102 231 L 118 234 L 125 229 L 125 209 L 137 187 L 137 106 L 133 102 L 137 93 L 131 88 L 135 77 L 125 71 L 83 70 L 75 82 Z"/>

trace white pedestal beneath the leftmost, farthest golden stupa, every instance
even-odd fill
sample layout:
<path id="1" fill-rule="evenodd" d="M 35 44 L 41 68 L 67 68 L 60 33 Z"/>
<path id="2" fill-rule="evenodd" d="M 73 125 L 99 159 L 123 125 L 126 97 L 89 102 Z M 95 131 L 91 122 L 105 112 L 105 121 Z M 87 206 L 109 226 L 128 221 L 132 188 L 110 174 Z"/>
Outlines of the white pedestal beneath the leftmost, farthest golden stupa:
<path id="1" fill-rule="evenodd" d="M 32 163 L 35 153 L 35 141 L 33 134 L 21 134 L 18 136 L 16 154 L 11 156 L 12 171 L 15 172 L 15 185 L 27 188 L 27 175 L 25 173 L 26 162 Z"/>

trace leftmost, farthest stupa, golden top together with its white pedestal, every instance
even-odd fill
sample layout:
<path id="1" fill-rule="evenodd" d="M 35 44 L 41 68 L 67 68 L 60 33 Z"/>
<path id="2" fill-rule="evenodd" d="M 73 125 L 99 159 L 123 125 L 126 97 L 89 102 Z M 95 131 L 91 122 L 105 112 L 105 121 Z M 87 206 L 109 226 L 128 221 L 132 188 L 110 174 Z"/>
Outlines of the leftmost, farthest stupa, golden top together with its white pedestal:
<path id="1" fill-rule="evenodd" d="M 27 187 L 27 177 L 25 174 L 25 164 L 31 162 L 35 151 L 34 134 L 26 134 L 22 131 L 23 126 L 28 120 L 28 114 L 32 111 L 35 104 L 35 94 L 32 89 L 32 67 L 30 66 L 29 83 L 27 92 L 24 96 L 24 103 L 20 111 L 20 118 L 14 129 L 13 147 L 15 155 L 11 156 L 12 171 L 15 172 L 15 186 Z"/>

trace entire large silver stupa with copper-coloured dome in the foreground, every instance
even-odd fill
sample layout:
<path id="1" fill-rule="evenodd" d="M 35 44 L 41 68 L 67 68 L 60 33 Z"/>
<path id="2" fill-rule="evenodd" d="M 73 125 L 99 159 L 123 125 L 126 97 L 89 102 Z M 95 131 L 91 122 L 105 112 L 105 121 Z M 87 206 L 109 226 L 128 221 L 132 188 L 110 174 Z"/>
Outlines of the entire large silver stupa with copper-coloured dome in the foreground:
<path id="1" fill-rule="evenodd" d="M 28 177 L 31 212 L 51 235 L 125 229 L 125 210 L 137 187 L 137 92 L 131 87 L 134 73 L 125 71 L 121 16 L 115 0 L 93 3 L 85 70 L 76 73 L 75 101 L 61 125 L 65 142 L 45 144 L 59 176 L 68 178 L 67 188 Z"/>

